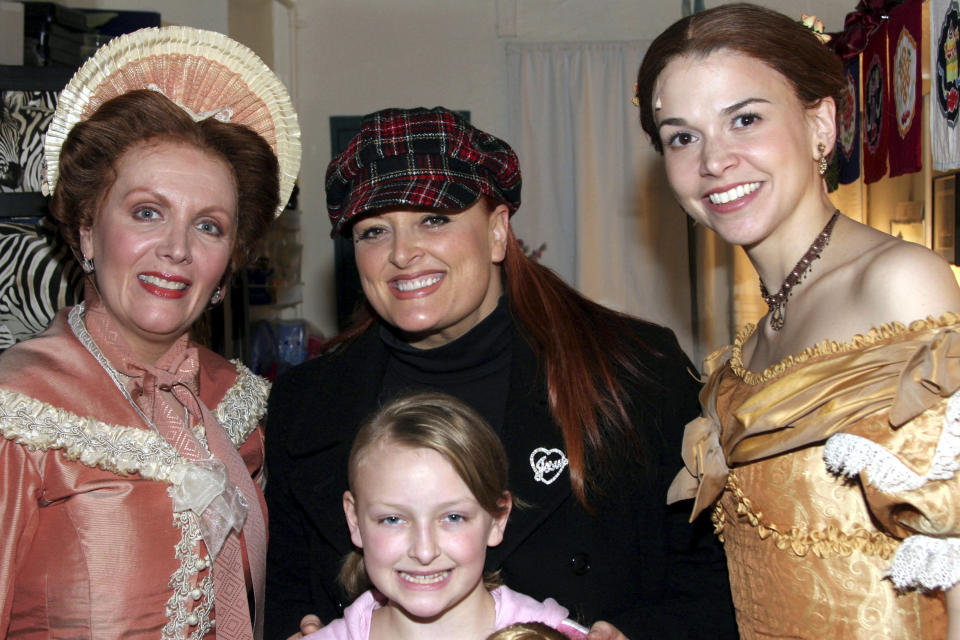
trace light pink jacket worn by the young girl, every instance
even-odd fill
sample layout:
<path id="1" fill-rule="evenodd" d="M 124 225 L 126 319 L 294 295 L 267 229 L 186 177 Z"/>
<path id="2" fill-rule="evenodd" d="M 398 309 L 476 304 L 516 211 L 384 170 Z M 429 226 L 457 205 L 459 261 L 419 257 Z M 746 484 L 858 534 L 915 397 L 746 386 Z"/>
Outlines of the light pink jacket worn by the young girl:
<path id="1" fill-rule="evenodd" d="M 571 640 L 582 640 L 587 637 L 587 630 L 568 619 L 567 609 L 560 606 L 553 598 L 539 602 L 507 587 L 497 587 L 490 593 L 497 608 L 495 627 L 491 633 L 518 622 L 542 622 Z M 334 620 L 306 638 L 309 640 L 368 640 L 370 620 L 374 610 L 379 608 L 380 603 L 373 597 L 373 593 L 366 591 L 343 610 L 342 618 Z"/>

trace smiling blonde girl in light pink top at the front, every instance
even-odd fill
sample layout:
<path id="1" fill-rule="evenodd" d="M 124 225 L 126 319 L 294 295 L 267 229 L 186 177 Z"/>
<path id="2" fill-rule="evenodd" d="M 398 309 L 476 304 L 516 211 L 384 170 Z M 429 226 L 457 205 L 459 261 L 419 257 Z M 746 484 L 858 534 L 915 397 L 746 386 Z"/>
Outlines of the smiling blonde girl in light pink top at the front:
<path id="1" fill-rule="evenodd" d="M 439 393 L 387 404 L 357 433 L 349 486 L 357 550 L 340 579 L 356 599 L 308 637 L 480 639 L 531 621 L 586 637 L 553 599 L 485 581 L 486 549 L 502 541 L 512 498 L 503 446 L 467 405 Z"/>

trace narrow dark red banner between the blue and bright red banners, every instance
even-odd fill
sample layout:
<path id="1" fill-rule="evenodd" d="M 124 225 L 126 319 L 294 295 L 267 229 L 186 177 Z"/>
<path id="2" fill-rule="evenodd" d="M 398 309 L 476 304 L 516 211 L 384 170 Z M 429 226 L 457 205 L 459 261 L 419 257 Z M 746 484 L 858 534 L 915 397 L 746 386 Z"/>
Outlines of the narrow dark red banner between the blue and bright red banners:
<path id="1" fill-rule="evenodd" d="M 863 181 L 887 172 L 887 25 L 881 24 L 863 50 Z"/>

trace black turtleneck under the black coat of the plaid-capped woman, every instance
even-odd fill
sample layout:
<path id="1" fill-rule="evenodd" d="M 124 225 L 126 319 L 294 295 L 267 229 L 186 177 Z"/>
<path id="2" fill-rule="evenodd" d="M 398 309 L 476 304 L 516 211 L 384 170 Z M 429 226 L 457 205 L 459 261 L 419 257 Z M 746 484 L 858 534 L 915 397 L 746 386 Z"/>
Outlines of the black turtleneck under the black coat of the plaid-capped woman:
<path id="1" fill-rule="evenodd" d="M 380 339 L 389 357 L 380 401 L 409 391 L 441 391 L 473 407 L 501 434 L 510 388 L 512 330 L 505 296 L 477 326 L 433 349 L 413 347 L 381 325 Z"/>

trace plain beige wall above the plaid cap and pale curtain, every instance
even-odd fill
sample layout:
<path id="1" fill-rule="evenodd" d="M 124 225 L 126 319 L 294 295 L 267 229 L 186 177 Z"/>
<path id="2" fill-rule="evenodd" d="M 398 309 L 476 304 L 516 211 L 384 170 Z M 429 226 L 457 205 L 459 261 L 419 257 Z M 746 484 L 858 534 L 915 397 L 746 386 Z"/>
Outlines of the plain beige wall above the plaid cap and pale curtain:
<path id="1" fill-rule="evenodd" d="M 792 0 L 765 4 L 797 13 Z M 856 3 L 803 4 L 830 30 L 842 27 Z M 444 105 L 468 109 L 477 126 L 506 136 L 506 42 L 650 40 L 681 11 L 680 0 L 301 0 L 296 6 L 307 283 L 302 312 L 324 332 L 334 330 L 335 318 L 323 191 L 331 115 Z M 288 79 L 287 9 L 275 4 L 274 20 L 275 63 Z"/>

